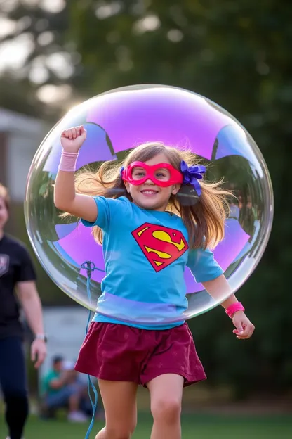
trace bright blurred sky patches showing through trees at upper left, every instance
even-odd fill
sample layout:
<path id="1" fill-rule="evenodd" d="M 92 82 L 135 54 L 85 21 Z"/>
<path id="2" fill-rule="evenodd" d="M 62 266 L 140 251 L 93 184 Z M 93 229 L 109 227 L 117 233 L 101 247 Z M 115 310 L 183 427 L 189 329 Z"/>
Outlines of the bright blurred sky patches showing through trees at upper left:
<path id="1" fill-rule="evenodd" d="M 73 1 L 73 0 L 69 0 Z M 79 53 L 67 53 L 59 51 L 51 55 L 41 55 L 34 58 L 32 65 L 26 65 L 27 56 L 34 50 L 34 41 L 32 35 L 25 30 L 30 25 L 29 15 L 20 18 L 20 20 L 8 20 L 7 13 L 12 11 L 19 3 L 31 6 L 39 6 L 44 11 L 50 13 L 60 13 L 66 6 L 65 0 L 0 0 L 0 40 L 11 34 L 16 36 L 7 42 L 0 42 L 0 76 L 5 70 L 9 69 L 13 77 L 20 78 L 28 75 L 29 80 L 39 85 L 38 98 L 48 105 L 60 106 L 61 101 L 69 100 L 72 89 L 69 85 L 44 84 L 48 80 L 48 68 L 52 70 L 57 77 L 64 81 L 71 77 L 74 72 L 74 65 L 80 61 Z M 133 26 L 133 34 L 143 32 L 152 32 L 160 26 L 160 20 L 156 15 L 144 15 L 145 6 L 143 0 L 137 0 L 133 6 L 133 13 L 138 15 L 138 20 Z M 98 20 L 104 20 L 111 15 L 121 11 L 121 3 L 113 0 L 110 4 L 97 2 L 95 15 Z M 142 15 L 142 18 L 141 18 Z M 39 20 L 40 22 L 42 20 Z M 41 23 L 40 23 L 41 26 Z M 169 30 L 166 37 L 172 42 L 179 42 L 183 39 L 180 30 Z M 39 34 L 38 44 L 44 48 L 53 42 L 54 34 L 44 28 L 44 32 Z M 45 50 L 44 50 L 45 53 Z M 122 63 L 122 61 L 121 61 Z M 71 105 L 71 104 L 69 104 Z"/>

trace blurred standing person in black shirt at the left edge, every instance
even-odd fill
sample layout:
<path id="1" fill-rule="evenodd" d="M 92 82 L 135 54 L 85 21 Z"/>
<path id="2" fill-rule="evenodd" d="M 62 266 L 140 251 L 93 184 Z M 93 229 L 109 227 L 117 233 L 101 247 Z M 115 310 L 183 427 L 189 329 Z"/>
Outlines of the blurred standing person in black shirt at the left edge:
<path id="1" fill-rule="evenodd" d="M 29 253 L 22 243 L 4 234 L 8 212 L 8 191 L 0 184 L 0 386 L 6 405 L 7 439 L 21 439 L 29 409 L 20 305 L 35 336 L 31 357 L 36 368 L 46 357 L 46 336 Z"/>

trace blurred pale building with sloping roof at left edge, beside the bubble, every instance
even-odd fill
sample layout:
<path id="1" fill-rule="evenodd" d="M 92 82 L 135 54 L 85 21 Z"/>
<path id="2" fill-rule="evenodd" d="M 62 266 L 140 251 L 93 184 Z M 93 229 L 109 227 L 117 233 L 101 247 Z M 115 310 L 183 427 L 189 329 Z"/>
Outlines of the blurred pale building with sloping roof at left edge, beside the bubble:
<path id="1" fill-rule="evenodd" d="M 11 200 L 23 201 L 30 164 L 49 129 L 42 120 L 0 108 L 0 182 Z"/>

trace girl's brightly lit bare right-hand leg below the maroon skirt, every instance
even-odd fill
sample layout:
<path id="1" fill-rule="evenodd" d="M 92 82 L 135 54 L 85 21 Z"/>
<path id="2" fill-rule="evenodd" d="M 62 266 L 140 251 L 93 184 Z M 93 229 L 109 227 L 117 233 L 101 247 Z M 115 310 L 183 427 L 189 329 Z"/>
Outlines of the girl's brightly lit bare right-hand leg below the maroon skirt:
<path id="1" fill-rule="evenodd" d="M 154 424 L 151 439 L 180 439 L 183 376 L 164 374 L 147 383 Z"/>

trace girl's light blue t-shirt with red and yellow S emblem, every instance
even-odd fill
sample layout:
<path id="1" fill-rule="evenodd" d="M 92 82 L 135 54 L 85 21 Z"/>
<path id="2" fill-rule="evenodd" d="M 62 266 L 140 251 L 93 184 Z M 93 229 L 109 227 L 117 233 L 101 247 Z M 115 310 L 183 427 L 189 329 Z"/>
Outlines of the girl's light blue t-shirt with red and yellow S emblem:
<path id="1" fill-rule="evenodd" d="M 94 199 L 97 220 L 82 222 L 102 229 L 106 275 L 93 322 L 142 329 L 183 324 L 182 314 L 187 309 L 185 267 L 197 282 L 211 281 L 223 274 L 213 253 L 189 249 L 187 229 L 178 215 L 141 209 L 126 197 Z M 145 318 L 149 325 L 138 323 Z M 166 323 L 154 324 L 157 319 Z"/>

